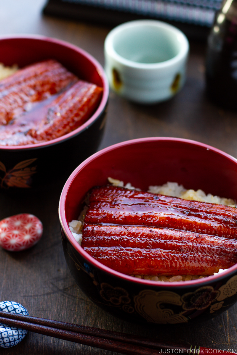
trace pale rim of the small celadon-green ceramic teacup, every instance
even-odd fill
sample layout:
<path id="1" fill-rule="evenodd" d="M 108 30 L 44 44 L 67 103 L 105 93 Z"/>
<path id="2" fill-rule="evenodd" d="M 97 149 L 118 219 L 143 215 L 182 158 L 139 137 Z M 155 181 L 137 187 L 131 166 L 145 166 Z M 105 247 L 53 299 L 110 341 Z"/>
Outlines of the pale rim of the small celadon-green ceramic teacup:
<path id="1" fill-rule="evenodd" d="M 170 59 L 164 60 L 162 62 L 156 62 L 156 63 L 135 62 L 130 59 L 126 59 L 122 55 L 118 54 L 117 51 L 114 49 L 114 44 L 113 44 L 114 37 L 121 31 L 124 31 L 126 29 L 144 27 L 144 26 L 162 28 L 172 32 L 174 35 L 176 35 L 179 42 L 182 43 L 179 52 Z M 116 60 L 118 63 L 124 65 L 125 67 L 128 67 L 129 69 L 153 71 L 158 69 L 161 70 L 161 69 L 169 68 L 172 65 L 176 64 L 177 62 L 183 60 L 188 55 L 189 42 L 185 34 L 180 29 L 178 29 L 177 27 L 169 23 L 159 21 L 159 20 L 134 20 L 134 21 L 128 21 L 118 25 L 107 34 L 106 39 L 104 41 L 104 51 L 108 56 Z"/>

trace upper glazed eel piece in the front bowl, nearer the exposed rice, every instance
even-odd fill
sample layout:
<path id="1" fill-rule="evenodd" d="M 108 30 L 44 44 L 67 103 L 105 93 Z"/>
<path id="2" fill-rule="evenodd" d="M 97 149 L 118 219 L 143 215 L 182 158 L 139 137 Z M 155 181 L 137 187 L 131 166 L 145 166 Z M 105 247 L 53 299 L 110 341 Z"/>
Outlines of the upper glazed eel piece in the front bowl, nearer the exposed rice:
<path id="1" fill-rule="evenodd" d="M 106 186 L 94 188 L 86 223 L 144 225 L 237 239 L 237 209 Z"/>

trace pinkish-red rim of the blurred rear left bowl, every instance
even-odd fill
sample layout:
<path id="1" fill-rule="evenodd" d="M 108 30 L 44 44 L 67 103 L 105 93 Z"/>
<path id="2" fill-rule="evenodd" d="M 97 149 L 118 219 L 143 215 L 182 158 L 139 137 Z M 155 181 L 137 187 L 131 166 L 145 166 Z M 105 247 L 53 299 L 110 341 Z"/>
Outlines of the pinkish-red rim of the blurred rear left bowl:
<path id="1" fill-rule="evenodd" d="M 0 146 L 0 149 L 2 150 L 7 150 L 7 151 L 14 151 L 14 150 L 29 150 L 29 149 L 39 149 L 39 148 L 44 148 L 45 146 L 53 146 L 55 144 L 64 142 L 69 140 L 70 138 L 79 135 L 82 131 L 85 131 L 88 129 L 103 113 L 106 104 L 108 102 L 108 97 L 109 97 L 109 84 L 107 80 L 106 73 L 104 72 L 104 69 L 101 64 L 87 51 L 84 49 L 71 44 L 69 42 L 66 42 L 64 40 L 58 39 L 58 38 L 52 38 L 52 37 L 47 37 L 44 35 L 40 34 L 12 34 L 12 35 L 1 35 L 0 36 L 0 42 L 2 40 L 14 40 L 14 39 L 33 39 L 33 40 L 41 40 L 43 42 L 48 42 L 48 43 L 55 43 L 58 44 L 62 47 L 67 47 L 70 48 L 78 53 L 80 53 L 82 56 L 86 57 L 92 64 L 96 67 L 96 70 L 101 77 L 102 83 L 103 83 L 103 94 L 102 94 L 102 99 L 101 102 L 95 111 L 95 113 L 81 126 L 79 126 L 77 129 L 74 131 L 71 131 L 61 137 L 55 138 L 53 140 L 47 141 L 47 142 L 42 142 L 42 143 L 36 143 L 36 144 L 27 144 L 27 145 L 21 145 L 21 146 Z"/>

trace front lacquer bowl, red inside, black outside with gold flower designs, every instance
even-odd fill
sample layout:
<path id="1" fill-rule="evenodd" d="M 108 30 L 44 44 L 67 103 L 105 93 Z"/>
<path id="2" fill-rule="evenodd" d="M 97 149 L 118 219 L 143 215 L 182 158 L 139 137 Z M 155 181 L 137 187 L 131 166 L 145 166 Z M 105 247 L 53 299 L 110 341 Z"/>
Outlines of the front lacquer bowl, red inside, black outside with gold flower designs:
<path id="1" fill-rule="evenodd" d="M 91 187 L 107 177 L 147 190 L 167 181 L 186 189 L 237 200 L 237 160 L 195 141 L 141 138 L 115 144 L 86 159 L 61 193 L 59 218 L 66 262 L 76 283 L 99 307 L 136 322 L 187 323 L 210 319 L 237 301 L 237 264 L 212 277 L 186 282 L 133 278 L 89 256 L 72 236 L 68 222 L 77 219 Z"/>

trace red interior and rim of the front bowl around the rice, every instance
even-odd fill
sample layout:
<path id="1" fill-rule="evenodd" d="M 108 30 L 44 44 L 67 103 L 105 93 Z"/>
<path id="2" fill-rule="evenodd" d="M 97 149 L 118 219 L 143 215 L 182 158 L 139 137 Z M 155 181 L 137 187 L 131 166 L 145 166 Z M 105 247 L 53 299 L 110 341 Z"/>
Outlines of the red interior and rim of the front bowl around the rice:
<path id="1" fill-rule="evenodd" d="M 186 189 L 202 189 L 212 195 L 237 200 L 237 160 L 199 142 L 166 137 L 141 138 L 115 144 L 86 159 L 74 170 L 62 191 L 59 204 L 61 225 L 71 244 L 87 260 L 120 277 L 133 280 L 91 258 L 75 242 L 67 224 L 77 219 L 87 191 L 93 186 L 107 184 L 108 176 L 123 180 L 125 184 L 131 182 L 142 190 L 147 190 L 149 185 L 172 181 Z M 237 269 L 237 265 L 228 272 L 233 268 Z M 136 279 L 136 282 L 149 281 Z M 190 282 L 201 283 L 206 279 Z M 188 283 L 185 282 L 185 285 Z"/>

